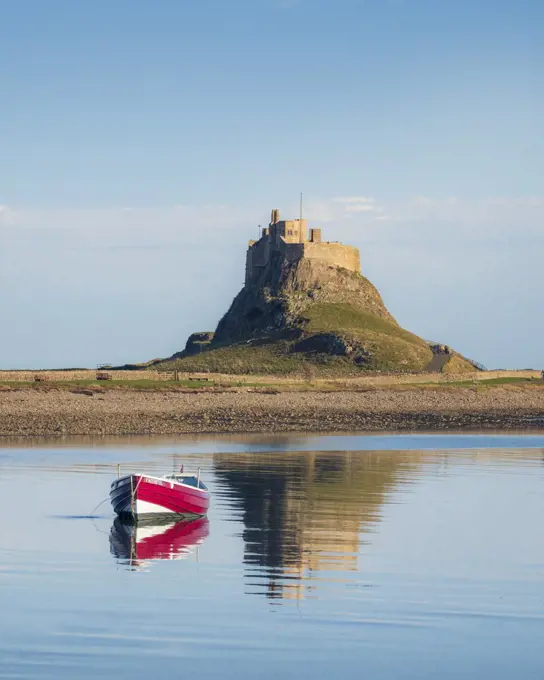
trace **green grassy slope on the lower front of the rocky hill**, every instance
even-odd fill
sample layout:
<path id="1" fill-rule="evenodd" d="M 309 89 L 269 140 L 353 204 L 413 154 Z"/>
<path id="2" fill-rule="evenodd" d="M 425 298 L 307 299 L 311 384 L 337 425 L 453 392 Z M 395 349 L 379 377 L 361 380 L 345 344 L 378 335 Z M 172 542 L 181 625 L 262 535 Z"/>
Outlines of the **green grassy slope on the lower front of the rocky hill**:
<path id="1" fill-rule="evenodd" d="M 332 333 L 362 345 L 370 353 L 364 365 L 350 356 L 321 352 L 293 352 L 287 340 L 253 340 L 216 346 L 200 354 L 162 362 L 159 370 L 220 373 L 308 373 L 353 375 L 366 371 L 421 371 L 432 359 L 427 344 L 395 323 L 347 303 L 316 303 L 304 312 L 304 337 Z"/>

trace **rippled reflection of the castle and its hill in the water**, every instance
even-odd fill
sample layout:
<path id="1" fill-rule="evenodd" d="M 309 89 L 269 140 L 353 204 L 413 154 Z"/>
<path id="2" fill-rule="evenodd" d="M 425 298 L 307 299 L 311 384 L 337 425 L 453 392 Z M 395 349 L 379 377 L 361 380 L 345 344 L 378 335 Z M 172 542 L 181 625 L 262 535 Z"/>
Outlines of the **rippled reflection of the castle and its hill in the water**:
<path id="1" fill-rule="evenodd" d="M 214 468 L 242 512 L 248 584 L 300 598 L 312 581 L 358 569 L 388 494 L 414 466 L 399 452 L 217 455 Z"/>

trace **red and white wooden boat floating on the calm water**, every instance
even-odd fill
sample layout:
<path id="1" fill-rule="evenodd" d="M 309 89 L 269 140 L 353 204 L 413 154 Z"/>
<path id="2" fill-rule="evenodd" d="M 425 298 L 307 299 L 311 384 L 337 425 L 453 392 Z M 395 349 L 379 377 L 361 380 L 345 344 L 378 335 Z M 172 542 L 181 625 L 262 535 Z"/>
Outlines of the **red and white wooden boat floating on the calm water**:
<path id="1" fill-rule="evenodd" d="M 164 477 L 131 474 L 111 484 L 110 500 L 122 518 L 174 519 L 205 515 L 210 492 L 198 475 L 173 474 Z"/>

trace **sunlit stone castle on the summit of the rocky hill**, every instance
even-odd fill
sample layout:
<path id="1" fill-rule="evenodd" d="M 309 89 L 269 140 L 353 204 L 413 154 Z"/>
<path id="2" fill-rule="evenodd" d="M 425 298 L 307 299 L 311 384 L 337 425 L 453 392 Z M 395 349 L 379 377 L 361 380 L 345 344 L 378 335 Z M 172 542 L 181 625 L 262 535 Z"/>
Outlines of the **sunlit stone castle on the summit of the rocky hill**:
<path id="1" fill-rule="evenodd" d="M 280 211 L 272 210 L 270 224 L 258 241 L 250 241 L 246 257 L 246 287 L 256 283 L 270 262 L 281 257 L 287 262 L 311 259 L 360 272 L 359 250 L 342 243 L 323 241 L 321 229 L 310 229 L 306 220 L 281 220 Z"/>

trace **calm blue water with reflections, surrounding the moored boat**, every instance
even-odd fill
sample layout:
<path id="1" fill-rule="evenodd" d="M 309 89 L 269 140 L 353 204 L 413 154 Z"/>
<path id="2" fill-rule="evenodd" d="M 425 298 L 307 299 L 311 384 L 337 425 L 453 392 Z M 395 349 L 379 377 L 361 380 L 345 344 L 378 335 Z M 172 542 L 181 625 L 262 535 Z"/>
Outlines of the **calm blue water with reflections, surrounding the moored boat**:
<path id="1" fill-rule="evenodd" d="M 208 518 L 96 506 L 201 467 Z M 0 448 L 0 678 L 544 677 L 544 436 Z"/>

